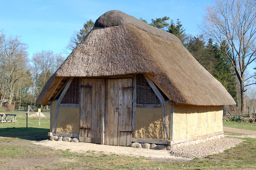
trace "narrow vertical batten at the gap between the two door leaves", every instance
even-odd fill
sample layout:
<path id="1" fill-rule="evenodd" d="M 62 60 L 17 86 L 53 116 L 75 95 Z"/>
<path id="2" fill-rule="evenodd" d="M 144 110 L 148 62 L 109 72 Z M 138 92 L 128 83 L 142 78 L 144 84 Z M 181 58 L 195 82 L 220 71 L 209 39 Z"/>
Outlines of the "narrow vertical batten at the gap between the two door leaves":
<path id="1" fill-rule="evenodd" d="M 101 79 L 101 145 L 104 144 L 104 117 L 105 117 L 105 80 Z"/>

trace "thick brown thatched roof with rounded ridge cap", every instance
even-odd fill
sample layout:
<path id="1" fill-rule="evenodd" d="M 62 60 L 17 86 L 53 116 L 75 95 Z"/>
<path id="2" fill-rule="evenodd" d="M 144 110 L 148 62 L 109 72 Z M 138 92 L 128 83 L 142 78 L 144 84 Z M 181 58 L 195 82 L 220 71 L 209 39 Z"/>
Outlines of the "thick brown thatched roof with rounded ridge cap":
<path id="1" fill-rule="evenodd" d="M 193 58 L 176 36 L 116 10 L 96 20 L 92 31 L 46 83 L 37 103 L 46 104 L 45 95 L 56 77 L 133 73 L 149 73 L 178 104 L 235 104 L 225 87 Z"/>

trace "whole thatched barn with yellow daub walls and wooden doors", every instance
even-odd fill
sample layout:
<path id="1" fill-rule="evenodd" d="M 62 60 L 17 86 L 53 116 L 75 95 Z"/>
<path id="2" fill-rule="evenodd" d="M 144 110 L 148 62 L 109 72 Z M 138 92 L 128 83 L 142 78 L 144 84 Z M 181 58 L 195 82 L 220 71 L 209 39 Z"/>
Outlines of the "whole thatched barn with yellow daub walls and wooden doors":
<path id="1" fill-rule="evenodd" d="M 51 132 L 81 142 L 173 145 L 223 134 L 235 101 L 171 33 L 113 10 L 46 83 Z"/>

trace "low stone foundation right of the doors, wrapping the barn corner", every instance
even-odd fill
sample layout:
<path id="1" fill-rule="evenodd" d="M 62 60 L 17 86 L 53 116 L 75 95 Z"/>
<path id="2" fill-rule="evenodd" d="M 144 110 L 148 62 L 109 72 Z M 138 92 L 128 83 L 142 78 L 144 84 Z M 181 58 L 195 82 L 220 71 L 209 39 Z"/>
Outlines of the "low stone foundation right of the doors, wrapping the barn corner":
<path id="1" fill-rule="evenodd" d="M 176 149 L 177 147 L 180 146 L 187 146 L 187 145 L 195 145 L 195 144 L 199 144 L 201 142 L 206 142 L 208 140 L 214 140 L 214 139 L 220 139 L 224 137 L 224 134 L 220 134 L 220 135 L 214 135 L 211 137 L 205 137 L 202 139 L 197 139 L 197 140 L 190 140 L 187 142 L 181 142 L 178 144 L 173 144 L 173 145 L 156 145 L 156 144 L 146 144 L 146 143 L 138 143 L 138 142 L 133 142 L 130 146 L 131 147 L 135 147 L 136 148 L 144 148 L 144 149 L 155 149 L 155 150 L 173 150 Z M 150 146 L 150 147 L 144 147 L 145 145 Z"/>

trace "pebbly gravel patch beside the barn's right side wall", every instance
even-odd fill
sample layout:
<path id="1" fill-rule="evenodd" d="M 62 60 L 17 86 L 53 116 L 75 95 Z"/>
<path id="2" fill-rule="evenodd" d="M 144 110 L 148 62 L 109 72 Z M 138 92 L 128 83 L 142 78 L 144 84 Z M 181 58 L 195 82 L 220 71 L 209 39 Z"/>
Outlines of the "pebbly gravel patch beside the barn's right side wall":
<path id="1" fill-rule="evenodd" d="M 207 142 L 178 147 L 170 152 L 174 157 L 180 158 L 195 158 L 195 157 L 205 157 L 213 153 L 218 153 L 220 150 L 226 150 L 230 147 L 243 142 L 245 140 L 236 138 L 221 138 L 215 140 L 208 140 Z"/>

